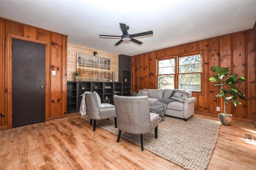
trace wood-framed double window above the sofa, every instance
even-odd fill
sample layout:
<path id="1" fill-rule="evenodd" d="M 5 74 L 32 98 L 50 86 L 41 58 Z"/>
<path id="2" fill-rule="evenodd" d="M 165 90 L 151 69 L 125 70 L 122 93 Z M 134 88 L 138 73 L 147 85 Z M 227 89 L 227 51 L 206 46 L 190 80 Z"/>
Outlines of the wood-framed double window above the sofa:
<path id="1" fill-rule="evenodd" d="M 158 88 L 201 91 L 201 53 L 158 61 Z"/>

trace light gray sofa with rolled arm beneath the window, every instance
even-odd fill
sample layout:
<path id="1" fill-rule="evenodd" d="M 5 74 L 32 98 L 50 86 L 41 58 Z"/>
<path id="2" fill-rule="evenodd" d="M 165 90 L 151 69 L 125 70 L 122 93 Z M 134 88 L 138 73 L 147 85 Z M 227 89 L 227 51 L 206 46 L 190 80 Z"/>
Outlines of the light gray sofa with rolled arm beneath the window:
<path id="1" fill-rule="evenodd" d="M 145 90 L 145 89 L 144 89 Z M 160 104 L 158 99 L 168 99 L 171 94 L 173 95 L 178 89 L 147 89 L 148 90 L 148 103 L 149 104 Z M 163 104 L 165 106 L 164 111 L 165 115 L 179 117 L 187 121 L 187 119 L 194 115 L 194 106 L 196 102 L 196 98 L 192 97 L 192 92 L 190 90 L 185 90 L 185 92 L 190 95 L 184 99 L 184 102 L 172 101 L 170 103 Z M 139 93 L 140 95 L 140 93 Z M 140 96 L 143 96 L 140 95 Z"/>

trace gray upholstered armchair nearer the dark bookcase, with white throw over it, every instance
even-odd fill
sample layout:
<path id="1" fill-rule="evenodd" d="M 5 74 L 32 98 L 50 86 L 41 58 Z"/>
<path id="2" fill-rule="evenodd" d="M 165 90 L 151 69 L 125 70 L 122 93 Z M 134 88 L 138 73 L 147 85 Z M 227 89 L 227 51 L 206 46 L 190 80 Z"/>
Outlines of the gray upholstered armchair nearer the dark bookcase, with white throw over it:
<path id="1" fill-rule="evenodd" d="M 99 104 L 97 100 L 96 93 L 85 93 L 85 102 L 87 107 L 88 116 L 90 117 L 90 124 L 94 120 L 93 131 L 96 129 L 96 120 L 108 119 L 114 117 L 115 127 L 116 126 L 116 111 L 115 107 L 108 107 L 104 104 Z M 110 104 L 109 104 L 110 105 Z"/>

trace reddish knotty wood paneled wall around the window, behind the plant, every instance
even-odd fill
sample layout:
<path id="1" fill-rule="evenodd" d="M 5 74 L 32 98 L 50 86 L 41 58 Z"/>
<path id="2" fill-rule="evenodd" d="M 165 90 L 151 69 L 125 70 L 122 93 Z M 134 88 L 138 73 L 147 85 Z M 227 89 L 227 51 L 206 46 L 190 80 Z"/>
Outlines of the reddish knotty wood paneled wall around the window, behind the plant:
<path id="1" fill-rule="evenodd" d="M 248 100 L 241 101 L 242 104 L 236 107 L 229 104 L 227 111 L 234 115 L 234 119 L 252 122 L 256 110 L 255 34 L 255 29 L 249 29 L 132 56 L 132 90 L 158 88 L 157 59 L 202 51 L 203 89 L 202 93 L 192 94 L 196 97 L 195 113 L 218 116 L 216 106 L 220 106 L 223 111 L 221 100 L 216 101 L 214 97 L 219 93 L 219 87 L 214 86 L 208 78 L 212 75 L 210 67 L 214 64 L 229 66 L 232 73 L 247 78 L 246 83 L 240 85 L 240 90 L 246 94 Z"/>

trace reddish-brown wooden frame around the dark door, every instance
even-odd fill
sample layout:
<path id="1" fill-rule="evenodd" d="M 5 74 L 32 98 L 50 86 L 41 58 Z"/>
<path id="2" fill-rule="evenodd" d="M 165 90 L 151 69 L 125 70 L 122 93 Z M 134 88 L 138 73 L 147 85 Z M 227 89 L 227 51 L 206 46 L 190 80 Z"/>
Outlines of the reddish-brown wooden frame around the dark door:
<path id="1" fill-rule="evenodd" d="M 30 39 L 26 37 L 20 37 L 16 35 L 8 35 L 7 39 L 7 115 L 8 115 L 8 129 L 12 128 L 12 39 L 20 39 L 25 41 L 31 41 L 34 43 L 40 43 L 45 45 L 45 121 L 48 121 L 49 115 L 49 101 L 50 101 L 50 75 L 49 69 L 50 68 L 50 59 L 49 59 L 49 47 L 48 42 L 46 41 L 39 41 L 36 39 Z"/>

